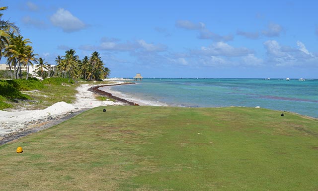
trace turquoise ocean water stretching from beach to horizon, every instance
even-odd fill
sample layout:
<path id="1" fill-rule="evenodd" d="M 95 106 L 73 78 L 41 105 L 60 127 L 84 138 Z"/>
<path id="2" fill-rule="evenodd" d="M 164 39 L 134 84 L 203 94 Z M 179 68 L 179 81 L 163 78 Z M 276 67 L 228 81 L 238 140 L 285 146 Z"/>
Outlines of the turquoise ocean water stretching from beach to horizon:
<path id="1" fill-rule="evenodd" d="M 318 118 L 318 80 L 144 79 L 111 90 L 171 106 L 260 106 Z"/>

